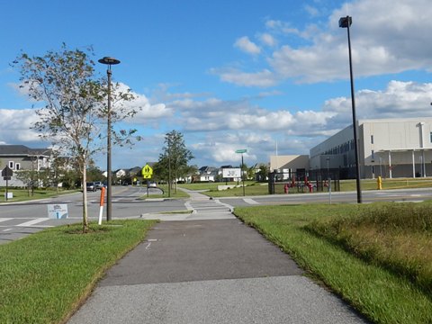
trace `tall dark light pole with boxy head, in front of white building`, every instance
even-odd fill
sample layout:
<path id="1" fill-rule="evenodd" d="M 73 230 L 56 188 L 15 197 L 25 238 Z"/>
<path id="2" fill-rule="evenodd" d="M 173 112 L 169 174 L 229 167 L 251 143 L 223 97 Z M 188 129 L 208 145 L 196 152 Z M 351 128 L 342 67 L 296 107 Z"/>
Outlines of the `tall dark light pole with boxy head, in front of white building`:
<path id="1" fill-rule="evenodd" d="M 353 108 L 353 131 L 354 131 L 354 149 L 356 153 L 356 188 L 357 188 L 357 202 L 362 202 L 362 189 L 360 187 L 360 165 L 358 163 L 358 142 L 357 142 L 357 119 L 356 119 L 356 99 L 354 97 L 354 77 L 353 77 L 353 63 L 351 57 L 351 39 L 349 36 L 349 26 L 353 23 L 350 16 L 342 17 L 339 19 L 339 27 L 347 28 L 348 32 L 348 54 L 349 54 L 349 75 L 351 78 L 351 105 Z"/>

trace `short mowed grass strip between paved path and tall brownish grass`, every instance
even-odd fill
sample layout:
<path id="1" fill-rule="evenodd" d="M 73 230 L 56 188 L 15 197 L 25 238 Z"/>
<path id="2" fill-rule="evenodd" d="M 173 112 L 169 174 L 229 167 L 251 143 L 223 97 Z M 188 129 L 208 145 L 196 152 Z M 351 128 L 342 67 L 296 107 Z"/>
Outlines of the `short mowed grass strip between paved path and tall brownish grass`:
<path id="1" fill-rule="evenodd" d="M 400 208 L 398 206 L 394 208 Z M 376 204 L 257 206 L 236 208 L 235 213 L 282 247 L 312 277 L 329 286 L 369 320 L 389 324 L 431 323 L 432 296 L 419 289 L 419 284 L 409 275 L 401 275 L 391 266 L 380 266 L 371 258 L 359 257 L 355 249 L 347 249 L 335 242 L 333 234 L 326 238 L 311 231 L 317 222 L 342 218 L 355 220 L 360 217 L 358 215 L 368 214 L 376 207 Z M 369 229 L 367 222 L 362 223 Z M 387 229 L 392 226 L 390 224 L 392 222 L 383 223 L 383 228 Z M 365 229 L 353 231 L 359 231 L 361 237 Z M 428 235 L 430 243 L 430 232 Z M 419 250 L 423 248 L 418 247 Z M 432 251 L 423 249 L 422 253 L 426 257 Z M 375 258 L 380 256 L 378 253 Z"/>

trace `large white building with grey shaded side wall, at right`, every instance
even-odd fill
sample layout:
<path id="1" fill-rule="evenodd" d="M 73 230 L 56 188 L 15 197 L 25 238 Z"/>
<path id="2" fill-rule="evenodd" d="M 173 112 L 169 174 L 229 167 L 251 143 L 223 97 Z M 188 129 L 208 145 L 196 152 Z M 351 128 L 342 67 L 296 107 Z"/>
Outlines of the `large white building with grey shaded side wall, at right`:
<path id="1" fill-rule="evenodd" d="M 432 118 L 358 121 L 361 178 L 432 176 Z M 355 178 L 353 126 L 338 131 L 310 151 L 310 169 L 338 169 Z"/>

